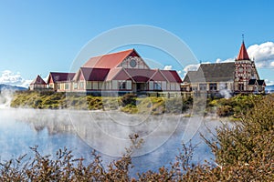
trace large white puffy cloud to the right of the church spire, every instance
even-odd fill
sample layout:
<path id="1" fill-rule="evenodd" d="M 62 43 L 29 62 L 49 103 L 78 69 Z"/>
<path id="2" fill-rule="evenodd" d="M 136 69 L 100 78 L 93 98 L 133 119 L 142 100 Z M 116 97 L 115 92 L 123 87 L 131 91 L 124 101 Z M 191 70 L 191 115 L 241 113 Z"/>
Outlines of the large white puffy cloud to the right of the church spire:
<path id="1" fill-rule="evenodd" d="M 248 56 L 255 59 L 255 64 L 259 68 L 274 68 L 274 43 L 266 42 L 260 45 L 250 45 Z"/>

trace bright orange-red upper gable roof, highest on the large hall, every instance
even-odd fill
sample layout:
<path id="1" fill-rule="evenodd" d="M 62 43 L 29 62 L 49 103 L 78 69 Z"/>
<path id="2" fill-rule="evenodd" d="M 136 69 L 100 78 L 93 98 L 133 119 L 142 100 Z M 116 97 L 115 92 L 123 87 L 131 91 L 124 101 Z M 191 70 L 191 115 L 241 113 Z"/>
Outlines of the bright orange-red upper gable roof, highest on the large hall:
<path id="1" fill-rule="evenodd" d="M 138 56 L 134 49 L 91 57 L 83 67 L 113 68 L 119 66 L 127 56 Z"/>

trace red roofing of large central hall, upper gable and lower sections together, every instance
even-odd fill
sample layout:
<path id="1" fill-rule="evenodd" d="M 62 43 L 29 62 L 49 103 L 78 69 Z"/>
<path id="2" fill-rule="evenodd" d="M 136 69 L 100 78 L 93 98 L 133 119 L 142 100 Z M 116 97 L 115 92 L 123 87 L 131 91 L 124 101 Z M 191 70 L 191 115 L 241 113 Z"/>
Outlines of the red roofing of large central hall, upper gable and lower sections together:
<path id="1" fill-rule="evenodd" d="M 91 57 L 84 66 L 80 67 L 73 80 L 110 81 L 132 79 L 134 82 L 154 80 L 182 83 L 176 71 L 118 67 L 128 56 L 139 55 L 134 49 L 130 49 L 109 55 Z"/>

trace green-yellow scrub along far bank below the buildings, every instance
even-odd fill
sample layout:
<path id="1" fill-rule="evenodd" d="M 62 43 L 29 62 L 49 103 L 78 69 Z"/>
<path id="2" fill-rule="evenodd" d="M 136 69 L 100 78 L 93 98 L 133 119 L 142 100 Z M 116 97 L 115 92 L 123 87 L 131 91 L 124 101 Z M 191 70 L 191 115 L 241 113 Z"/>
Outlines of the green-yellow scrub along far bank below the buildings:
<path id="1" fill-rule="evenodd" d="M 124 96 L 86 96 L 81 94 L 66 94 L 52 91 L 24 91 L 16 92 L 11 102 L 12 107 L 27 107 L 38 109 L 80 109 L 80 110 L 120 110 L 130 114 L 152 115 L 181 114 L 190 110 L 193 105 L 206 104 L 201 110 L 202 114 L 217 116 L 232 116 L 239 118 L 245 115 L 248 109 L 253 108 L 263 96 L 261 95 L 237 95 L 231 98 L 203 99 L 189 97 L 156 97 L 136 96 L 126 94 Z M 195 104 L 194 104 L 195 101 Z M 204 110 L 205 109 L 205 110 Z"/>

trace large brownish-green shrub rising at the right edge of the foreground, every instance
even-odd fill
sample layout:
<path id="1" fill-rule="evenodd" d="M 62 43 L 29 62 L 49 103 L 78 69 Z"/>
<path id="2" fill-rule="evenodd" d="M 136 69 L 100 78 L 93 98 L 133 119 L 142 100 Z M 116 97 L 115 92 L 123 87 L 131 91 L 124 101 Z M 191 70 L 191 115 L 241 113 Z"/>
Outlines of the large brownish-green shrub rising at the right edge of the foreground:
<path id="1" fill-rule="evenodd" d="M 245 100 L 248 97 L 245 98 Z M 265 96 L 234 126 L 216 129 L 205 139 L 221 167 L 218 180 L 271 181 L 274 177 L 274 97 Z M 249 99 L 249 98 L 248 98 Z M 246 101 L 245 101 L 246 102 Z M 217 174 L 216 174 L 217 175 Z"/>

